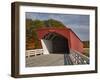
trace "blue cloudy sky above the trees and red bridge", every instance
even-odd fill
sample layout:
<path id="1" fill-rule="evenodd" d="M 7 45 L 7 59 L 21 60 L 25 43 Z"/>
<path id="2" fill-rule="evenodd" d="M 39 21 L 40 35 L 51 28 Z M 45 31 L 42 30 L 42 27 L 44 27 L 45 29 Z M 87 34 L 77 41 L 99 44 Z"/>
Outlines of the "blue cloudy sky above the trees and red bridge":
<path id="1" fill-rule="evenodd" d="M 55 19 L 62 22 L 65 26 L 71 28 L 82 40 L 89 40 L 89 15 L 77 14 L 53 14 L 53 13 L 34 13 L 26 12 L 26 18 L 32 20 Z"/>

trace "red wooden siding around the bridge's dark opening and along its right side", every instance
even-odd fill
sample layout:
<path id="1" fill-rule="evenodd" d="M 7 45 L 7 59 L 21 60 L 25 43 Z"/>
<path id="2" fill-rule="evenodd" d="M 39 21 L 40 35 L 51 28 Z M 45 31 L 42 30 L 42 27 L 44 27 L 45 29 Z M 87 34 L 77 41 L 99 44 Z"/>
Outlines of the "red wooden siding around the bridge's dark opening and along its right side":
<path id="1" fill-rule="evenodd" d="M 83 43 L 78 36 L 68 28 L 41 28 L 37 30 L 39 43 L 41 45 L 41 39 L 48 33 L 57 33 L 66 39 L 68 39 L 69 49 L 83 52 Z M 41 46 L 42 47 L 42 46 Z"/>

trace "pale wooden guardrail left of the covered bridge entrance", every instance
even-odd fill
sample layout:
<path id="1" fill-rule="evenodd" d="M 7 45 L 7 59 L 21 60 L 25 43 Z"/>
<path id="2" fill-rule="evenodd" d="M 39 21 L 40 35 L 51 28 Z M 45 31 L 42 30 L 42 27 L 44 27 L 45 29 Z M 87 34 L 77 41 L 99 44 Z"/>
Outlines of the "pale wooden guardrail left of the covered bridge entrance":
<path id="1" fill-rule="evenodd" d="M 37 55 L 42 55 L 43 49 L 26 50 L 26 57 L 32 57 Z"/>

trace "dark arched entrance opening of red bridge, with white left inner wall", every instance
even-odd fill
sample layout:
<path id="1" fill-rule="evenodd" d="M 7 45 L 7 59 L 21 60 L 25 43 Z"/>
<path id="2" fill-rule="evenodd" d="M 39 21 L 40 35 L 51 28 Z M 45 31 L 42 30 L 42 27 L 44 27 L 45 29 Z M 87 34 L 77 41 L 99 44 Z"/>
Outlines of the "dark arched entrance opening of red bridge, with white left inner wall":
<path id="1" fill-rule="evenodd" d="M 69 54 L 68 39 L 57 33 L 46 34 L 42 38 L 41 43 L 44 50 L 44 54 Z"/>

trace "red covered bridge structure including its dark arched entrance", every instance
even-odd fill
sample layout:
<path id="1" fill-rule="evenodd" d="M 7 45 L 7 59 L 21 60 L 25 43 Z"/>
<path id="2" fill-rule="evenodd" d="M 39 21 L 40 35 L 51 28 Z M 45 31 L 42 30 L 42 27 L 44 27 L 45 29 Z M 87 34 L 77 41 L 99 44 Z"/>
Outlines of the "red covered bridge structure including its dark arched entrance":
<path id="1" fill-rule="evenodd" d="M 41 28 L 37 34 L 44 54 L 83 52 L 82 41 L 70 28 Z"/>

